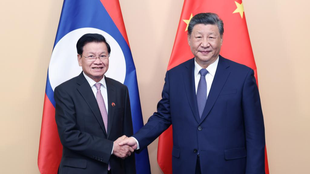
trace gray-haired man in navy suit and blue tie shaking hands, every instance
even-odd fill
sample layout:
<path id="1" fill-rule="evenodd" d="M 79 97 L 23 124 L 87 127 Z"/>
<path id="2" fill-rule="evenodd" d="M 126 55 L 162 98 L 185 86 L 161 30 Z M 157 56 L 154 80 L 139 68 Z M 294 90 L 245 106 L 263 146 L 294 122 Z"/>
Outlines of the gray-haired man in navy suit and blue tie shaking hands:
<path id="1" fill-rule="evenodd" d="M 172 124 L 173 173 L 265 173 L 264 122 L 254 71 L 219 55 L 223 33 L 217 14 L 191 19 L 188 44 L 194 58 L 167 71 L 157 112 L 119 145 L 139 152 Z"/>

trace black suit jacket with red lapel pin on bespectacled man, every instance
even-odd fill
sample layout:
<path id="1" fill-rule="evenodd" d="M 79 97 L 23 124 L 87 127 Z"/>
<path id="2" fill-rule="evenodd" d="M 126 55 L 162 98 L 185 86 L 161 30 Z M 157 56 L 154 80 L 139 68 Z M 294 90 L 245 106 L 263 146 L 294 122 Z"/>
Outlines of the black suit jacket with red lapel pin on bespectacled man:
<path id="1" fill-rule="evenodd" d="M 105 77 L 105 81 L 108 134 L 83 72 L 55 88 L 55 119 L 63 145 L 60 174 L 106 174 L 108 162 L 113 174 L 135 173 L 134 154 L 124 160 L 111 155 L 113 141 L 122 135 L 133 134 L 128 89 L 111 78 Z"/>

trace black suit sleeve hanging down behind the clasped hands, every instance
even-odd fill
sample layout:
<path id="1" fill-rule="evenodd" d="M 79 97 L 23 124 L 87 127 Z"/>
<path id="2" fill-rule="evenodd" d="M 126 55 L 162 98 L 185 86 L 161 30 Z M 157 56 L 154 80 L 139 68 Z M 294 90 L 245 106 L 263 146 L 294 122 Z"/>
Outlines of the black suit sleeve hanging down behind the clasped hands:
<path id="1" fill-rule="evenodd" d="M 133 134 L 132 119 L 131 119 L 131 109 L 130 100 L 128 94 L 128 88 L 126 87 L 126 98 L 125 98 L 125 111 L 123 119 L 123 135 L 130 137 Z M 135 174 L 135 153 L 132 153 L 129 157 L 125 159 L 125 173 Z"/>

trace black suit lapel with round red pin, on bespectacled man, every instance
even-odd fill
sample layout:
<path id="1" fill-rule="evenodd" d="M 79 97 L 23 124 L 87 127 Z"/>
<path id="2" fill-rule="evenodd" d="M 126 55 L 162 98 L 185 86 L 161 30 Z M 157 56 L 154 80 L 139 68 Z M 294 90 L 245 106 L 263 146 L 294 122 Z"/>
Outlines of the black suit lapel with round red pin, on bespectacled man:
<path id="1" fill-rule="evenodd" d="M 114 103 L 116 102 L 116 92 L 115 92 L 115 86 L 113 85 L 111 80 L 109 80 L 107 77 L 105 77 L 105 83 L 107 85 L 107 93 L 108 93 L 108 101 L 105 102 L 105 104 L 108 105 L 108 137 L 109 137 L 112 130 L 111 128 L 115 112 L 115 107 L 112 107 L 112 102 Z"/>

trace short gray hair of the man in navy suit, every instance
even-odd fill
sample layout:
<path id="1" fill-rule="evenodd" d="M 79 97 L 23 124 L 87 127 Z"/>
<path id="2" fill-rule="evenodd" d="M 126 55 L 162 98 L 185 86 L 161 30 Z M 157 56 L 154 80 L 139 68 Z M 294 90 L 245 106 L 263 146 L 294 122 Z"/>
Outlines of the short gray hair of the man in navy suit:
<path id="1" fill-rule="evenodd" d="M 197 24 L 211 24 L 217 25 L 219 28 L 219 34 L 223 36 L 224 33 L 224 23 L 223 20 L 219 18 L 219 15 L 215 13 L 198 13 L 195 15 L 188 24 L 187 33 L 192 34 L 193 28 Z"/>

